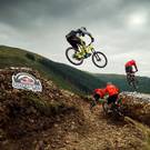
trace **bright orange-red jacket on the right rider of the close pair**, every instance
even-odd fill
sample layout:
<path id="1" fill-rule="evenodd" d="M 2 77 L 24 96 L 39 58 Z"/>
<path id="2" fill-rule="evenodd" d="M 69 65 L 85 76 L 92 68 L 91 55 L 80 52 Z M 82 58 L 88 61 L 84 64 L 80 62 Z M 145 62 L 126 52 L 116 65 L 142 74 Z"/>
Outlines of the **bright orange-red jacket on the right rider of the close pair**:
<path id="1" fill-rule="evenodd" d="M 108 84 L 107 88 L 104 89 L 104 91 L 106 91 L 106 93 L 109 94 L 109 97 L 119 93 L 119 89 L 113 84 Z"/>

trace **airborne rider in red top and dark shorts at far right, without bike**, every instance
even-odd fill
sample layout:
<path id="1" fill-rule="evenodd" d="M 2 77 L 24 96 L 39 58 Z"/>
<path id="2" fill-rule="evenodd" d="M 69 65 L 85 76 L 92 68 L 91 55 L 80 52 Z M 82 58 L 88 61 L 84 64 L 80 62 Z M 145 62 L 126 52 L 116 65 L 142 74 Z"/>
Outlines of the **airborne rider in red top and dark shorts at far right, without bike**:
<path id="1" fill-rule="evenodd" d="M 133 71 L 133 67 L 134 67 L 134 70 Z M 136 61 L 134 60 L 130 60 L 126 63 L 126 72 L 127 73 L 134 73 L 138 71 L 138 68 L 137 68 L 137 64 L 136 64 Z"/>

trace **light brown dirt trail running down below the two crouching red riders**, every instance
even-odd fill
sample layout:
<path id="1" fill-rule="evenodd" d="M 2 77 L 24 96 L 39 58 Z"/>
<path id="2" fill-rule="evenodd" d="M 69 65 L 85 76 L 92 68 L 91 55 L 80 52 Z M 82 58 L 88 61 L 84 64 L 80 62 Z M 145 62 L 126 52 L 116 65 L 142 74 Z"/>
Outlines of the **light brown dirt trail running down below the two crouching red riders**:
<path id="1" fill-rule="evenodd" d="M 61 150 L 141 150 L 143 137 L 133 124 L 107 119 L 101 106 L 91 112 L 89 103 L 82 101 L 81 109 L 89 122 L 89 132 L 68 134 L 69 143 Z"/>

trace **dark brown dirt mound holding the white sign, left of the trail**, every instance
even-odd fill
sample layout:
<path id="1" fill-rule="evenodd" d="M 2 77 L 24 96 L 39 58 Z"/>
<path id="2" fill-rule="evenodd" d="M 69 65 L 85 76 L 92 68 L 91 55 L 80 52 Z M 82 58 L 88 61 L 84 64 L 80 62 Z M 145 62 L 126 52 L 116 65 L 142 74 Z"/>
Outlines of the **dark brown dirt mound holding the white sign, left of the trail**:
<path id="1" fill-rule="evenodd" d="M 42 82 L 43 92 L 13 89 L 11 76 L 26 71 Z M 58 149 L 68 132 L 84 132 L 83 113 L 52 83 L 32 70 L 0 71 L 0 148 Z M 43 140 L 44 139 L 44 140 Z M 46 142 L 46 143 L 44 143 Z M 37 148 L 38 149 L 38 148 Z"/>

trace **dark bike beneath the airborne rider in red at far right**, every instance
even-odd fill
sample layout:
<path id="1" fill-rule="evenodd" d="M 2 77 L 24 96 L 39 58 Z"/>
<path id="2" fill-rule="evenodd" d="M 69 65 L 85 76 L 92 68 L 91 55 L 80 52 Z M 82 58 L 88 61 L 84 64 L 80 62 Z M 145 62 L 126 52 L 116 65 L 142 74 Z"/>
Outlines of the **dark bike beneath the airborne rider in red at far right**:
<path id="1" fill-rule="evenodd" d="M 134 90 L 138 89 L 138 80 L 134 76 L 134 72 L 127 73 L 127 81 L 128 81 L 129 86 L 132 87 Z"/>

